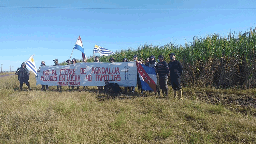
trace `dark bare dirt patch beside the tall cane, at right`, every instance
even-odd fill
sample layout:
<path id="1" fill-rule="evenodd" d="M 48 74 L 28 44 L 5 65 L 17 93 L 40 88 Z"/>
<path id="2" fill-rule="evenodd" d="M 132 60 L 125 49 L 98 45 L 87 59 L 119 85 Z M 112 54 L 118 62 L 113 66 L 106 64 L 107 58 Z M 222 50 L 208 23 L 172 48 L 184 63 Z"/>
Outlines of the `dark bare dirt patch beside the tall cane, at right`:
<path id="1" fill-rule="evenodd" d="M 227 109 L 256 116 L 256 98 L 252 95 L 227 95 L 216 93 L 195 93 L 196 98 L 211 104 L 222 104 Z M 195 98 L 195 97 L 194 97 Z"/>

